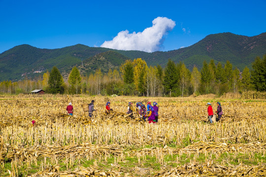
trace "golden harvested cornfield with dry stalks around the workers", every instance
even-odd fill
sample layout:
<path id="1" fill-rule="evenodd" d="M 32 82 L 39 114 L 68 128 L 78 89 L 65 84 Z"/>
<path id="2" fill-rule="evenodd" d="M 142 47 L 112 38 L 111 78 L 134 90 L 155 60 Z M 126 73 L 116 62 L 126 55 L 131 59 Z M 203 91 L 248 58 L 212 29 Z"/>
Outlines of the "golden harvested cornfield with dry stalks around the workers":
<path id="1" fill-rule="evenodd" d="M 158 123 L 126 114 L 140 101 L 158 103 Z M 224 115 L 210 124 L 217 101 Z M 265 153 L 263 99 L 0 96 L 0 177 L 265 176 Z"/>

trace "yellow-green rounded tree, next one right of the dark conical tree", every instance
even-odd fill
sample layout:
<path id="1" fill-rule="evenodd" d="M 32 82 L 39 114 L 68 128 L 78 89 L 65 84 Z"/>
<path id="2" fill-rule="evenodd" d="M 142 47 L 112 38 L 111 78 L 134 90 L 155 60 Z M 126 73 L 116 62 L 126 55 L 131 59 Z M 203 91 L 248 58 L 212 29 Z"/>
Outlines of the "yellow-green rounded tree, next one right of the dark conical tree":
<path id="1" fill-rule="evenodd" d="M 81 76 L 78 68 L 75 66 L 72 68 L 68 77 L 68 84 L 70 84 L 70 93 L 75 92 L 76 94 L 78 94 L 80 82 L 81 82 Z"/>

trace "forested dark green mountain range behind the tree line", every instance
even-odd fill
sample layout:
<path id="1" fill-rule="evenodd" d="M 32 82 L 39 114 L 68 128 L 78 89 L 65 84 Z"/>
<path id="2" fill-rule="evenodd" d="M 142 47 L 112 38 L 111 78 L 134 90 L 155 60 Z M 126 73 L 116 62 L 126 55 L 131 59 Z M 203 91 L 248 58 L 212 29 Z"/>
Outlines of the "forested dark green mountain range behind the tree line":
<path id="1" fill-rule="evenodd" d="M 112 52 L 111 52 L 112 51 Z M 82 74 L 94 72 L 98 67 L 103 72 L 118 67 L 126 59 L 144 59 L 148 65 L 166 65 L 168 59 L 182 61 L 189 69 L 199 68 L 203 60 L 214 59 L 217 63 L 229 60 L 242 70 L 251 68 L 255 57 L 266 54 L 266 33 L 257 36 L 236 35 L 230 32 L 210 34 L 198 43 L 168 52 L 122 51 L 77 44 L 61 49 L 39 49 L 19 45 L 0 54 L 0 81 L 18 81 L 35 78 L 57 66 L 63 75 L 68 75 L 73 66 Z M 82 65 L 83 63 L 83 65 Z"/>

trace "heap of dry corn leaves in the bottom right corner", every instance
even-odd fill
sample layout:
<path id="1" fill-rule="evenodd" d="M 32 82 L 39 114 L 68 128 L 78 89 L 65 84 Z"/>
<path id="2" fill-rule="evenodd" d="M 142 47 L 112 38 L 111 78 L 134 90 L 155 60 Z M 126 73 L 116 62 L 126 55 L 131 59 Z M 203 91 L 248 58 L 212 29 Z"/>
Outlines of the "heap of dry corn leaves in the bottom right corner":
<path id="1" fill-rule="evenodd" d="M 196 176 L 215 176 L 215 177 L 265 177 L 266 166 L 248 166 L 248 165 L 218 165 L 213 161 L 203 164 L 188 163 L 172 169 L 165 169 L 154 177 L 196 177 Z"/>

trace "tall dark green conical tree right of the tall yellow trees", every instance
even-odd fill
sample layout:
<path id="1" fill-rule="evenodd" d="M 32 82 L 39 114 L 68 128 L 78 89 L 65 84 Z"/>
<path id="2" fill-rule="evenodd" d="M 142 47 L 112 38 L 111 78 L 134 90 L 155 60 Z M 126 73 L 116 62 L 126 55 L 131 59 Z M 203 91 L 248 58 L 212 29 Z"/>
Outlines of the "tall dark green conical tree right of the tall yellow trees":
<path id="1" fill-rule="evenodd" d="M 169 59 L 166 64 L 164 86 L 166 90 L 169 91 L 170 96 L 171 91 L 178 86 L 177 69 L 175 63 L 171 59 Z"/>

